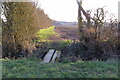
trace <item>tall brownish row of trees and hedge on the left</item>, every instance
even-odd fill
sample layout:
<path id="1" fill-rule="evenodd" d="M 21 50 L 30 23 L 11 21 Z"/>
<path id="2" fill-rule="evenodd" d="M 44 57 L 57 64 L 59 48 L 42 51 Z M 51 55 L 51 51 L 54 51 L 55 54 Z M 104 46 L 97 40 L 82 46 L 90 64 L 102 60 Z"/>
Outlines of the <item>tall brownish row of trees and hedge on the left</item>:
<path id="1" fill-rule="evenodd" d="M 29 57 L 36 49 L 35 32 L 51 26 L 52 20 L 34 2 L 3 2 L 1 5 L 6 19 L 2 19 L 2 57 L 18 58 L 23 54 Z"/>

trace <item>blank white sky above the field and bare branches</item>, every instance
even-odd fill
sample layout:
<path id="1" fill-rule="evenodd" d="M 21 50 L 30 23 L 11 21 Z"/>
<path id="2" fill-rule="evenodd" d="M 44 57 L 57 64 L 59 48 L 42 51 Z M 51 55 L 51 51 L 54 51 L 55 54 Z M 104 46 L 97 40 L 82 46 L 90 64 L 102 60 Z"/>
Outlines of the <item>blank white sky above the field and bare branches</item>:
<path id="1" fill-rule="evenodd" d="M 40 7 L 48 16 L 57 21 L 77 21 L 78 5 L 76 0 L 39 0 Z M 83 0 L 85 10 L 95 10 L 105 6 L 105 10 L 118 16 L 118 2 L 120 0 Z"/>

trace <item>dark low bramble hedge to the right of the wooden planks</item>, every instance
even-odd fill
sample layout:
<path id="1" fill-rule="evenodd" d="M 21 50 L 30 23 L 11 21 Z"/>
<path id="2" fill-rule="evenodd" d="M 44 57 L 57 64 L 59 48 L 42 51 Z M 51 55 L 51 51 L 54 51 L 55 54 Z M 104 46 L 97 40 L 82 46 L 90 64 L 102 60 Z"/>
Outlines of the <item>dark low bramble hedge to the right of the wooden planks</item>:
<path id="1" fill-rule="evenodd" d="M 115 55 L 111 42 L 89 42 L 87 45 L 83 43 L 73 43 L 66 46 L 62 50 L 61 60 L 102 60 L 106 61 Z M 114 58 L 114 57 L 113 57 Z M 72 59 L 72 60 L 71 60 Z"/>

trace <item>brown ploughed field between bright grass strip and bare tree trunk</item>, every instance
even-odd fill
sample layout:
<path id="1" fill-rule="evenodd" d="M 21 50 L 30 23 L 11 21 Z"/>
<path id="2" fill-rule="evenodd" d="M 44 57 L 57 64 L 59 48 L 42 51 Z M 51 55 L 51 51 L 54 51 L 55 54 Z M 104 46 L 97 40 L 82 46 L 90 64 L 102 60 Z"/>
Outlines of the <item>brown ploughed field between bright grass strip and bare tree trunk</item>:
<path id="1" fill-rule="evenodd" d="M 59 36 L 52 36 L 50 40 L 77 40 L 77 25 L 57 25 L 55 26 L 55 32 Z"/>

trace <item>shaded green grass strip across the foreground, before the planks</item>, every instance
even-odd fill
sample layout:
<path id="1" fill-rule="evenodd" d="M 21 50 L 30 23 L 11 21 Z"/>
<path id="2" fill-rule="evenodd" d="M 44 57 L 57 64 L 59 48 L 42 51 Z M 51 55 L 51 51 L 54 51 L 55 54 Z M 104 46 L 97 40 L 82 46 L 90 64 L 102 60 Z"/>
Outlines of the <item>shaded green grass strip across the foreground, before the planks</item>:
<path id="1" fill-rule="evenodd" d="M 117 78 L 116 61 L 42 63 L 37 59 L 2 60 L 3 78 Z"/>

